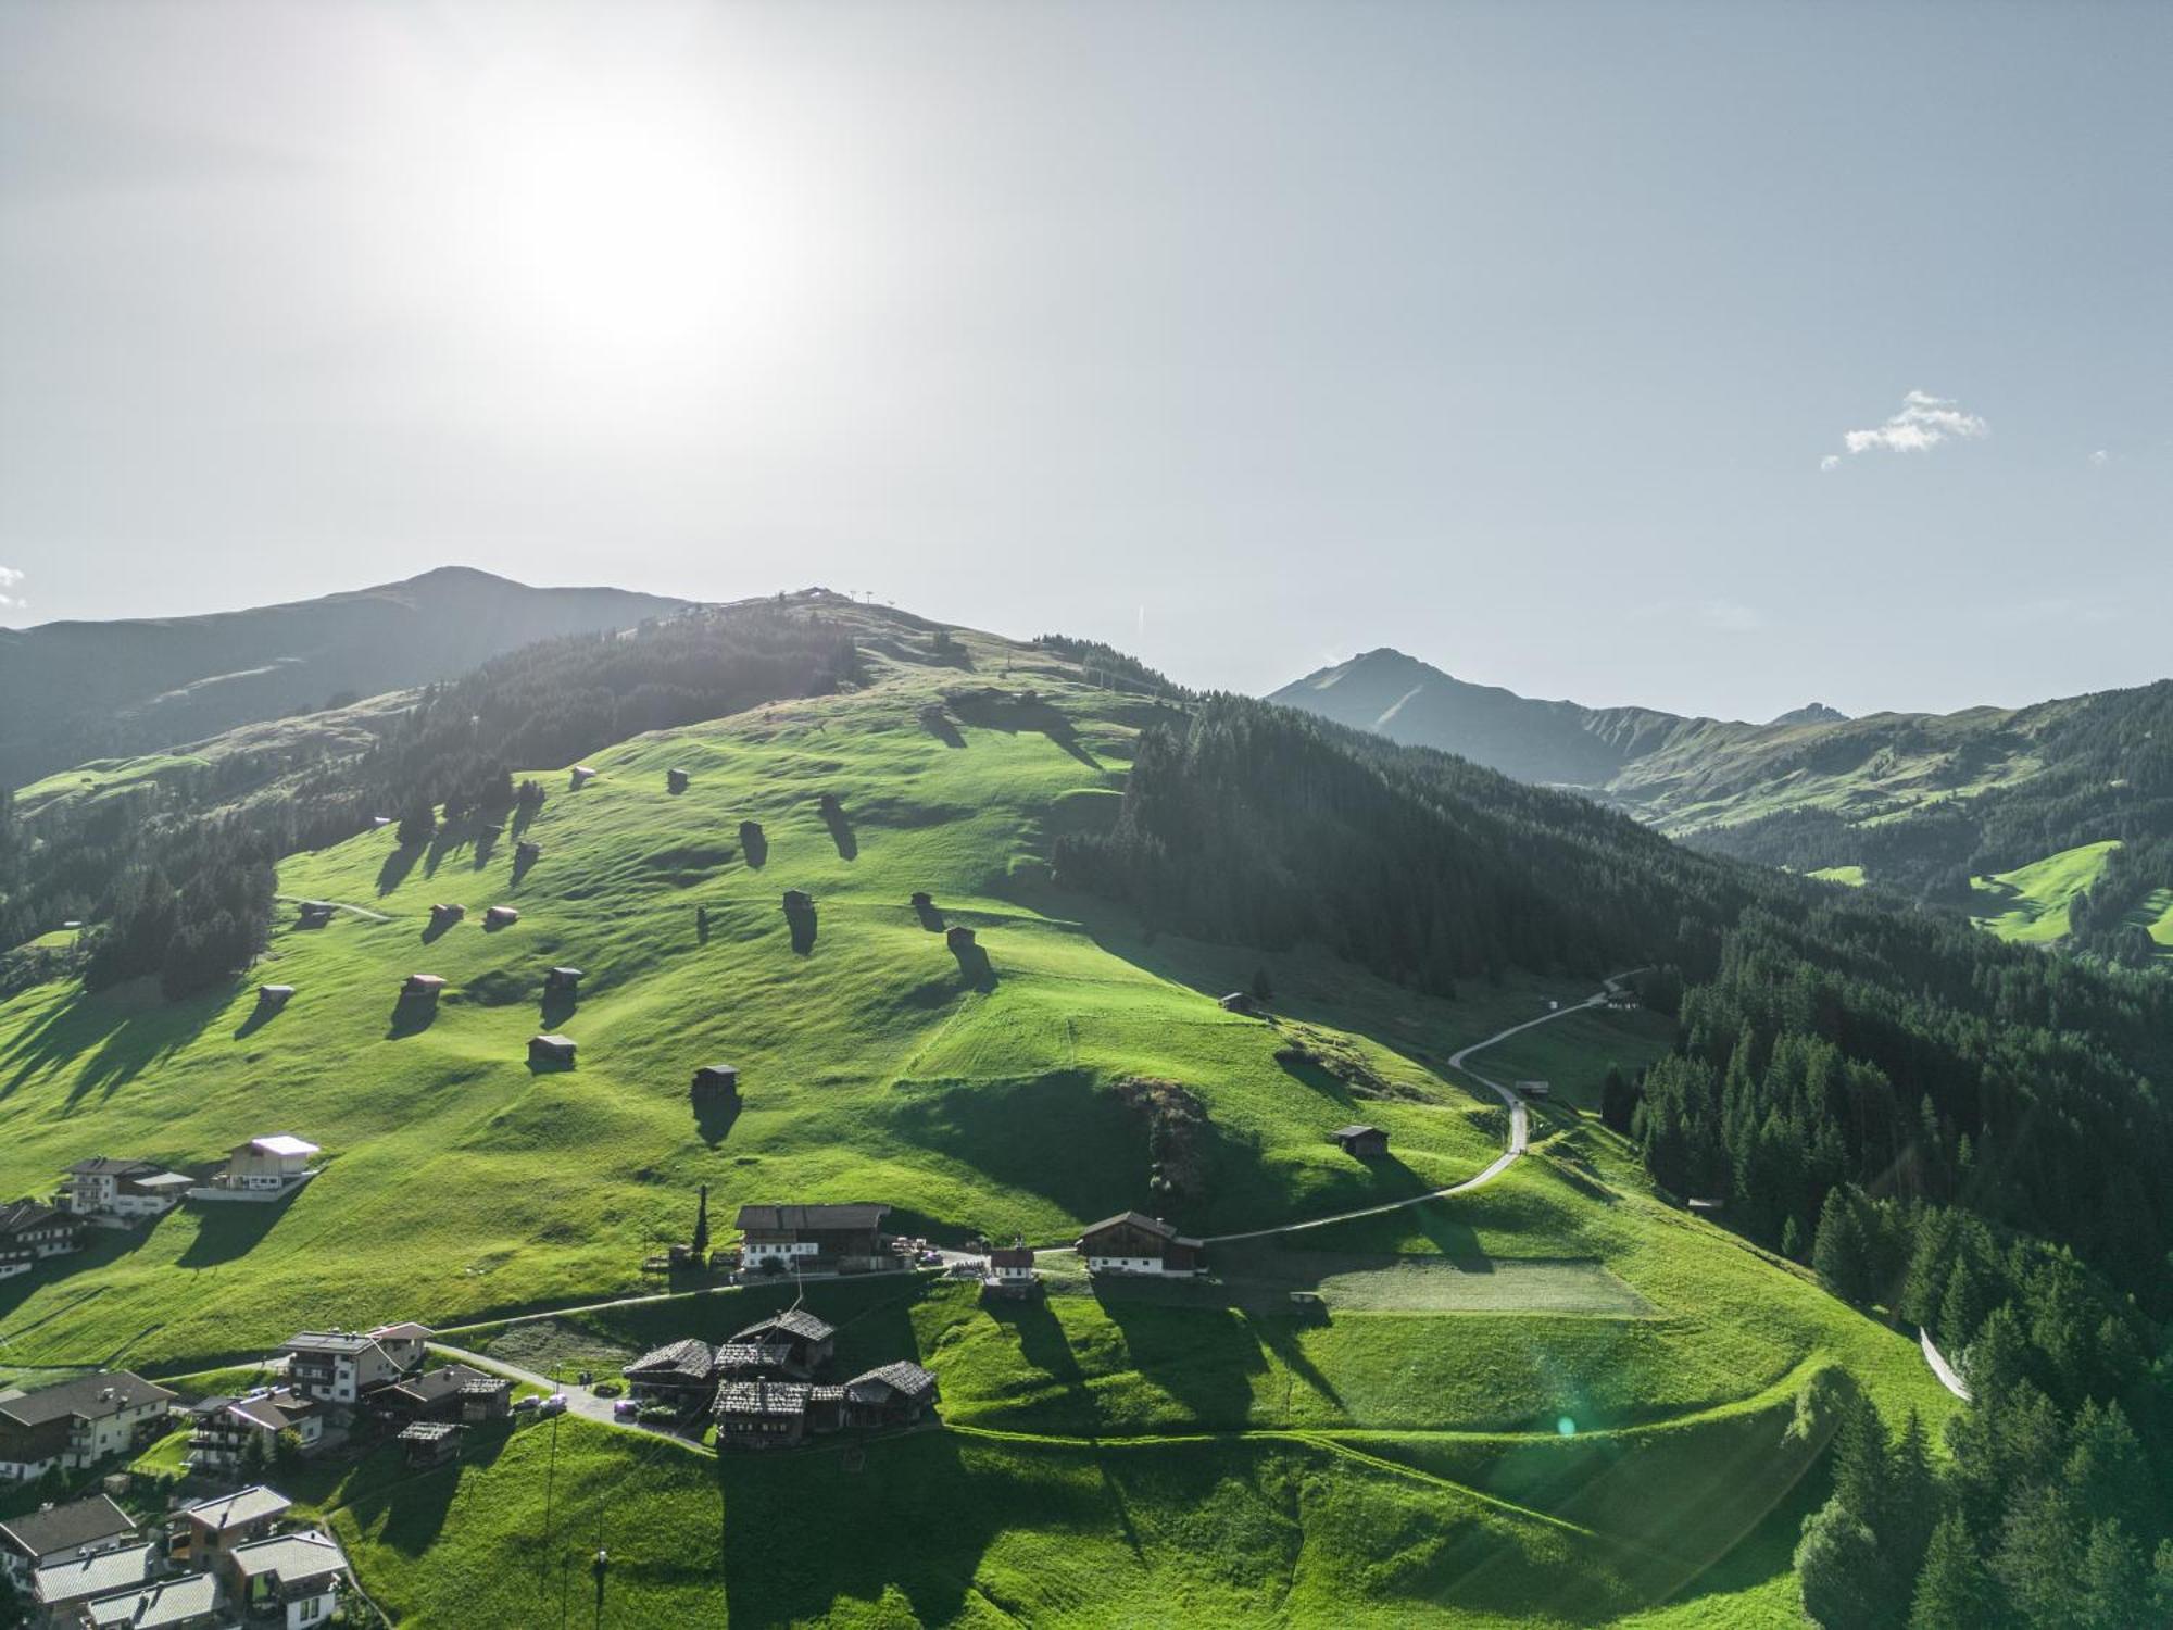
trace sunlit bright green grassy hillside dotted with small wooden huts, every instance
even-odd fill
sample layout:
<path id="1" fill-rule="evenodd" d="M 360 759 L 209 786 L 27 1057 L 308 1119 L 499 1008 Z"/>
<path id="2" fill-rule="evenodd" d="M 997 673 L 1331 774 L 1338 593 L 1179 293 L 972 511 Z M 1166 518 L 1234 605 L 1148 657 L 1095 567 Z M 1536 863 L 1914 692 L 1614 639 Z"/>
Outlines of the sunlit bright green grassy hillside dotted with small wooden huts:
<path id="1" fill-rule="evenodd" d="M 719 1217 L 882 1200 L 941 1239 L 1058 1243 L 1123 1206 L 1241 1232 L 1495 1161 L 1506 1115 L 1445 1061 L 1588 980 L 1430 998 L 1321 950 L 1150 939 L 1056 889 L 1047 856 L 1110 822 L 1169 704 L 1047 650 L 943 652 L 913 619 L 852 617 L 863 689 L 598 743 L 580 791 L 563 765 L 515 772 L 550 795 L 500 835 L 287 858 L 287 900 L 348 911 L 311 930 L 282 913 L 259 976 L 296 995 L 269 1017 L 250 989 L 165 1004 L 148 980 L 0 1004 L 0 1193 L 50 1191 L 87 1154 L 204 1169 L 252 1134 L 324 1145 L 285 1206 L 185 1208 L 0 1282 L 7 1365 L 200 1371 L 393 1317 L 480 1326 L 461 1341 L 528 1367 L 717 1337 L 778 1291 L 493 1324 L 658 1289 L 641 1258 L 684 1239 L 704 1182 Z M 517 841 L 539 856 L 517 865 Z M 813 893 L 811 924 L 787 921 L 787 889 Z M 432 902 L 465 921 L 432 930 Z M 491 904 L 519 921 L 487 930 Z M 982 956 L 947 950 L 952 924 Z M 585 969 L 565 1006 L 543 1002 L 554 963 Z M 435 1008 L 400 1000 L 411 971 L 448 978 Z M 1215 1004 L 1263 971 L 1273 1021 Z M 532 1071 L 539 1030 L 574 1037 L 578 1067 Z M 619 1626 L 1588 1623 L 1660 1604 L 1643 1621 L 1786 1623 L 1795 1524 L 1823 1493 L 1806 1387 L 1847 1376 L 1895 1421 L 1954 1400 L 1908 1337 L 1686 1217 L 1578 1115 L 1610 1061 L 1667 1041 L 1654 1015 L 1578 1011 L 1480 1054 L 1565 1082 L 1532 1156 L 1447 1200 L 1217 1247 L 1213 1284 L 1097 1300 L 1050 1258 L 1047 1304 L 1004 1313 L 924 1278 L 811 1287 L 847 1358 L 917 1354 L 943 1384 L 945 1430 L 865 1463 L 834 1441 L 719 1463 L 567 1421 L 550 1543 L 532 1428 L 419 1478 L 389 1454 L 337 1467 L 311 1497 L 411 1626 L 545 1621 L 567 1584 L 582 1600 L 600 1541 Z M 730 1119 L 689 1104 L 715 1058 L 743 1071 Z M 1115 1091 L 1136 1076 L 1204 1106 L 1193 1193 L 1150 1189 L 1147 1126 Z M 1393 1158 L 1326 1141 L 1352 1119 L 1389 1128 Z"/>

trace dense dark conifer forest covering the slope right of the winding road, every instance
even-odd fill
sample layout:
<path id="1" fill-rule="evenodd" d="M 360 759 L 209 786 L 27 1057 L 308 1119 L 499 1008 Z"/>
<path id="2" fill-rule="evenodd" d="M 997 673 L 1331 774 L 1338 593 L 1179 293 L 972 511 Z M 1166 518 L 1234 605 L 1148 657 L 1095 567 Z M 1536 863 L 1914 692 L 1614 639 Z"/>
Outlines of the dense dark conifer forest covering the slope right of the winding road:
<path id="1" fill-rule="evenodd" d="M 1147 730 L 1117 822 L 1056 858 L 1147 921 L 1319 939 L 1445 995 L 1504 963 L 1660 963 L 1643 993 L 1678 1041 L 1606 1084 L 1610 1124 L 1662 1189 L 1932 1330 L 1977 1395 L 1943 1471 L 1914 1424 L 1827 1400 L 1845 1421 L 1799 1552 L 1810 1617 L 2169 1621 L 2173 982 L 1697 856 L 1243 698 Z"/>

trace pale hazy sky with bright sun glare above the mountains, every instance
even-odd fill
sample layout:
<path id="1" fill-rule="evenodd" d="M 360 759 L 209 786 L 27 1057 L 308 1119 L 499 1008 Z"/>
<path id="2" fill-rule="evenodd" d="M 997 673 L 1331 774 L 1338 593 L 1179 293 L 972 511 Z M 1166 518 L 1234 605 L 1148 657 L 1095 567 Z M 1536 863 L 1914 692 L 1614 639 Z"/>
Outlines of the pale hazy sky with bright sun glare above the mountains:
<path id="1" fill-rule="evenodd" d="M 1269 689 L 2173 669 L 2173 4 L 0 2 L 0 622 L 824 582 Z"/>

